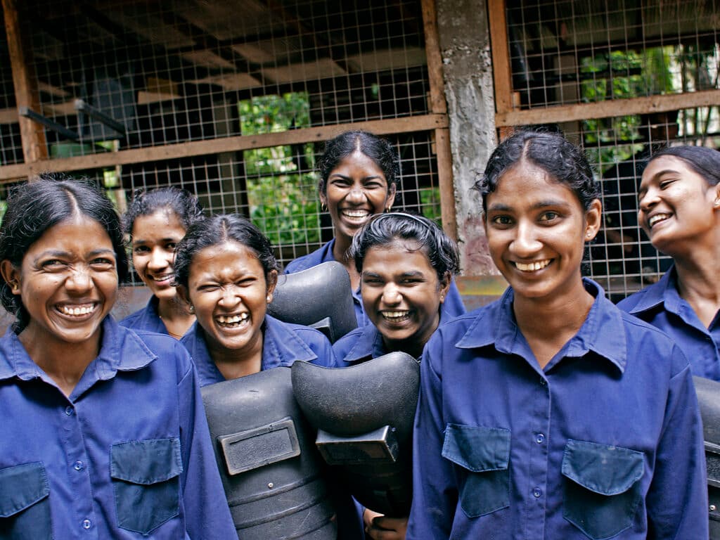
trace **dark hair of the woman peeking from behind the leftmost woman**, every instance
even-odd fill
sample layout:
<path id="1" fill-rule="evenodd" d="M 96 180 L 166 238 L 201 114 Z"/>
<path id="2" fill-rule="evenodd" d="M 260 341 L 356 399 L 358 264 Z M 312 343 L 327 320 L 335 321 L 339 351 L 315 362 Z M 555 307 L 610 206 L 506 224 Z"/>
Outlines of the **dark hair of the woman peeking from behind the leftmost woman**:
<path id="1" fill-rule="evenodd" d="M 132 202 L 122 215 L 122 230 L 132 238 L 132 226 L 141 215 L 152 215 L 158 210 L 173 212 L 187 230 L 197 220 L 202 220 L 202 206 L 192 193 L 175 186 L 156 189 L 138 189 L 132 194 Z"/>

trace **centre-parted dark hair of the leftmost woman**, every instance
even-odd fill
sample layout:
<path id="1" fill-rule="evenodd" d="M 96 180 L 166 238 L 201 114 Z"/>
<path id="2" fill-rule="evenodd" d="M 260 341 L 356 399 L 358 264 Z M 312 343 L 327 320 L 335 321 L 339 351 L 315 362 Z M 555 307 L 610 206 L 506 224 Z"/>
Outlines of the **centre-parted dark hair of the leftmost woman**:
<path id="1" fill-rule="evenodd" d="M 84 215 L 98 222 L 110 238 L 117 261 L 117 280 L 127 278 L 127 252 L 120 228 L 120 217 L 102 189 L 88 179 L 76 180 L 60 173 L 45 172 L 34 181 L 17 186 L 7 199 L 7 210 L 0 226 L 0 261 L 22 266 L 22 259 L 45 231 L 73 216 Z M 22 330 L 29 315 L 19 294 L 12 294 L 3 279 L 0 301 L 18 318 Z"/>

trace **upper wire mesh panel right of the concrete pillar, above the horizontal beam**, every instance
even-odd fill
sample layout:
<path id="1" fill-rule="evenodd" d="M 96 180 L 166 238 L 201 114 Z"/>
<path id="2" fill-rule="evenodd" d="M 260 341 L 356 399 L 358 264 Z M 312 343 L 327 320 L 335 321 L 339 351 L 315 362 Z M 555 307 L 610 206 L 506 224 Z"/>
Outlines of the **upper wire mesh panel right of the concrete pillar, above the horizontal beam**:
<path id="1" fill-rule="evenodd" d="M 509 0 L 518 107 L 718 88 L 718 0 Z"/>

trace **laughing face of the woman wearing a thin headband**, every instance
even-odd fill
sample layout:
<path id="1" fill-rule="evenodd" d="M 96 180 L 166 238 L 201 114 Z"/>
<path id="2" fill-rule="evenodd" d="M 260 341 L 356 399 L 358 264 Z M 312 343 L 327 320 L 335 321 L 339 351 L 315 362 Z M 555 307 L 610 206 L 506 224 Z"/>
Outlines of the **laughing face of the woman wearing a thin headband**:
<path id="1" fill-rule="evenodd" d="M 450 287 L 411 240 L 369 248 L 363 261 L 361 294 L 365 312 L 387 345 L 423 345 L 438 328 L 440 305 Z"/>

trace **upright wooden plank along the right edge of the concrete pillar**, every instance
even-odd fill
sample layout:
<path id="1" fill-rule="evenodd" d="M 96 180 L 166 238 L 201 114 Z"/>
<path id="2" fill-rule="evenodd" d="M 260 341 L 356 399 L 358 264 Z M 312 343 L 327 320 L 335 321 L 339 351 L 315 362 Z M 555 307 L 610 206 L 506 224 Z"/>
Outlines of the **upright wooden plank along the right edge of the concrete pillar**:
<path id="1" fill-rule="evenodd" d="M 500 114 L 513 109 L 513 73 L 508 49 L 505 0 L 487 0 L 487 19 L 490 22 L 490 53 L 492 54 L 492 79 L 495 82 L 495 110 Z"/>

